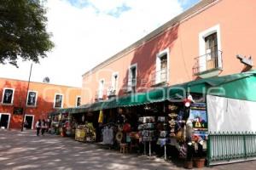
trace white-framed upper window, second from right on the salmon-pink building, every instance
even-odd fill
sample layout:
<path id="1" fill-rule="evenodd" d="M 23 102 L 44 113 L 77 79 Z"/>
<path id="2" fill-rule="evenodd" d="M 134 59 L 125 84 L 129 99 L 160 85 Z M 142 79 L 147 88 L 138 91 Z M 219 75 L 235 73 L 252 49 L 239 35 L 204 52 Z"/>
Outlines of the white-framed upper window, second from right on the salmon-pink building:
<path id="1" fill-rule="evenodd" d="M 168 81 L 168 56 L 168 48 L 156 55 L 155 76 L 153 77 L 155 84 Z"/>

